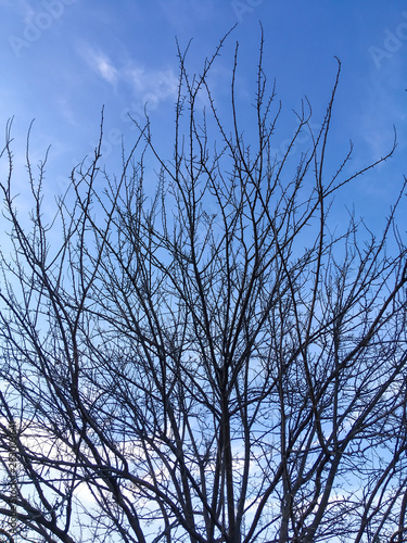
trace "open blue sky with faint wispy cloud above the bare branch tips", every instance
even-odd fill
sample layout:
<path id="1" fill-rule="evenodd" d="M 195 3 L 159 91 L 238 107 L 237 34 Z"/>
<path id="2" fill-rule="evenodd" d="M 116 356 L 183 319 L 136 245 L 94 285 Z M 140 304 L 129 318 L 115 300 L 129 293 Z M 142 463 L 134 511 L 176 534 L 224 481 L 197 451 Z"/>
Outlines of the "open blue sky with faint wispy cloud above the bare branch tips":
<path id="1" fill-rule="evenodd" d="M 178 75 L 176 37 L 181 47 L 193 38 L 189 65 L 199 71 L 222 35 L 238 23 L 214 66 L 212 81 L 226 112 L 239 41 L 240 99 L 250 106 L 259 21 L 266 39 L 266 72 L 270 80 L 276 78 L 283 104 L 276 151 L 292 134 L 291 110 L 298 108 L 304 96 L 314 106 L 315 123 L 321 121 L 336 55 L 343 71 L 333 156 L 345 152 L 352 139 L 353 164 L 364 165 L 391 147 L 393 125 L 398 134 L 396 156 L 359 181 L 353 191 L 356 203 L 374 219 L 407 174 L 404 0 L 0 0 L 0 126 L 15 115 L 18 162 L 29 122 L 36 119 L 34 156 L 40 157 L 52 144 L 47 189 L 60 190 L 72 166 L 92 152 L 102 105 L 107 162 L 119 156 L 119 134 L 130 146 L 136 132 L 127 113 L 137 115 L 145 102 L 157 137 L 163 146 L 170 142 Z"/>

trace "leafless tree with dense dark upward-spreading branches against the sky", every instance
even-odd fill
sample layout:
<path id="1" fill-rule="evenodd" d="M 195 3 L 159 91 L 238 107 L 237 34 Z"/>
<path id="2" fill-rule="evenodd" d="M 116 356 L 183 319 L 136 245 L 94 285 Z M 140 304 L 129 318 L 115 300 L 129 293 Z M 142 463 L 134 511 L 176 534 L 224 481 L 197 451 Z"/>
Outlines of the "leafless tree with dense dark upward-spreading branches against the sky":
<path id="1" fill-rule="evenodd" d="M 147 118 L 110 176 L 102 128 L 52 223 L 47 156 L 36 173 L 29 142 L 30 227 L 18 213 L 8 127 L 0 513 L 10 540 L 406 541 L 407 267 L 395 223 L 405 187 L 380 236 L 330 215 L 335 194 L 394 148 L 355 173 L 351 149 L 332 171 L 339 64 L 308 151 L 293 168 L 305 101 L 276 159 L 280 108 L 263 40 L 249 136 L 238 54 L 230 121 L 208 86 L 221 45 L 192 78 L 179 54 L 171 159 Z"/>

